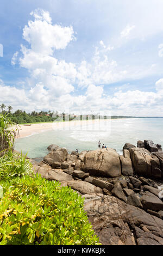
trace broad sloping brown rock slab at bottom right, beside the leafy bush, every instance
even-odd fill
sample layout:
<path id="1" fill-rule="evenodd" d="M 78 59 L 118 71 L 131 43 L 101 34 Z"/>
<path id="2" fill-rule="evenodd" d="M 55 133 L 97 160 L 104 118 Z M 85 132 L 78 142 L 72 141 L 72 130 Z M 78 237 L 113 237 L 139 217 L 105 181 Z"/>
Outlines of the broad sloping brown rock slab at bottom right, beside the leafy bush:
<path id="1" fill-rule="evenodd" d="M 85 194 L 84 197 L 84 209 L 103 245 L 163 244 L 160 218 L 112 196 Z"/>

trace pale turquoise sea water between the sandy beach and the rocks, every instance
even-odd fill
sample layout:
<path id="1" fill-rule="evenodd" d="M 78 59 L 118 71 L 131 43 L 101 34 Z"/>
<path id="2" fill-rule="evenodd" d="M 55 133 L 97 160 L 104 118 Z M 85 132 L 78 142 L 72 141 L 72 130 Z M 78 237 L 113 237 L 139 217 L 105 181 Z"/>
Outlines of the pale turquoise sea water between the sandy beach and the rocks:
<path id="1" fill-rule="evenodd" d="M 122 154 L 125 143 L 136 145 L 138 140 L 152 139 L 163 145 L 163 118 L 111 119 L 105 124 L 71 127 L 71 130 L 52 130 L 16 139 L 15 149 L 28 153 L 31 158 L 41 158 L 48 153 L 50 144 L 65 147 L 70 152 L 78 148 L 94 150 L 98 141 Z"/>

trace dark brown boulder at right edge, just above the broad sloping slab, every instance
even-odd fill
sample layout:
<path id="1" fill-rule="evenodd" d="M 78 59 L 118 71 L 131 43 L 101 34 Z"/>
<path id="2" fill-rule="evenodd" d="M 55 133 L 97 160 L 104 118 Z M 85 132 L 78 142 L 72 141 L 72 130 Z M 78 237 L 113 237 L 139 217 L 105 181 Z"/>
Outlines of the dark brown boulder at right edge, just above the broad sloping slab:
<path id="1" fill-rule="evenodd" d="M 156 212 L 163 210 L 163 202 L 151 192 L 146 191 L 141 198 L 141 202 L 145 210 L 149 209 Z"/>

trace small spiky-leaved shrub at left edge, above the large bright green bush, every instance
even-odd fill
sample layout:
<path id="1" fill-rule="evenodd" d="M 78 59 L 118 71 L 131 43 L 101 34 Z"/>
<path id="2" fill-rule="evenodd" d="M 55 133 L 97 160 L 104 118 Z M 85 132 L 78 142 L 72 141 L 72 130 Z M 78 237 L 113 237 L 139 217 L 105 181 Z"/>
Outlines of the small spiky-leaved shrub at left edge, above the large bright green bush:
<path id="1" fill-rule="evenodd" d="M 9 151 L 0 157 L 0 180 L 11 180 L 32 173 L 32 164 L 19 153 Z"/>

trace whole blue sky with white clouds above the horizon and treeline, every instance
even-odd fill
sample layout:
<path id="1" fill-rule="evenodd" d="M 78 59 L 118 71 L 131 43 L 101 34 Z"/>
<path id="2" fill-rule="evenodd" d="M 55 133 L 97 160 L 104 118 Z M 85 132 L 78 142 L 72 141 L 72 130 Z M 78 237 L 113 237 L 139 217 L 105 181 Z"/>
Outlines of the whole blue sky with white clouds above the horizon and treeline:
<path id="1" fill-rule="evenodd" d="M 162 9 L 162 0 L 0 0 L 0 105 L 162 117 Z"/>

